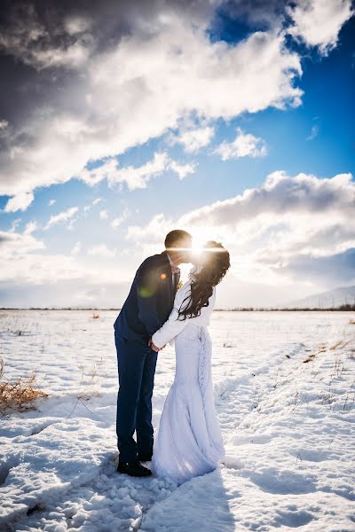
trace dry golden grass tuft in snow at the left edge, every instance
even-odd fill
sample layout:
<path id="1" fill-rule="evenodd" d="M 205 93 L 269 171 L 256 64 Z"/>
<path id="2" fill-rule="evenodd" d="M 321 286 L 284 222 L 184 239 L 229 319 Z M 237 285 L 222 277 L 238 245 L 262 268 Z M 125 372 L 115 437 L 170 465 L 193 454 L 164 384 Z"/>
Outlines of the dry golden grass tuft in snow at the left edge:
<path id="1" fill-rule="evenodd" d="M 4 361 L 0 358 L 0 414 L 8 411 L 24 412 L 36 410 L 35 401 L 38 397 L 48 394 L 38 389 L 36 372 L 28 377 L 19 377 L 11 381 L 4 380 Z"/>

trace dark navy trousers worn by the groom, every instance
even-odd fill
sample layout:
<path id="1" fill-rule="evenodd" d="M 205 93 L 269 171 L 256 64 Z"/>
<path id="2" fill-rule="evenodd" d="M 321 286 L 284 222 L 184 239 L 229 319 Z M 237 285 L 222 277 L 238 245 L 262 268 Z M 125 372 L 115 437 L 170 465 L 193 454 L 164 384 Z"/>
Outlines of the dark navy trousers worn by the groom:
<path id="1" fill-rule="evenodd" d="M 120 460 L 153 454 L 152 395 L 157 353 L 146 340 L 126 340 L 114 332 L 119 390 L 116 433 Z M 133 439 L 136 431 L 137 442 Z"/>

